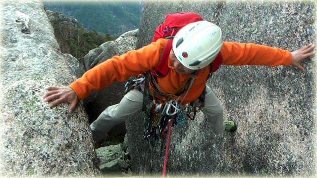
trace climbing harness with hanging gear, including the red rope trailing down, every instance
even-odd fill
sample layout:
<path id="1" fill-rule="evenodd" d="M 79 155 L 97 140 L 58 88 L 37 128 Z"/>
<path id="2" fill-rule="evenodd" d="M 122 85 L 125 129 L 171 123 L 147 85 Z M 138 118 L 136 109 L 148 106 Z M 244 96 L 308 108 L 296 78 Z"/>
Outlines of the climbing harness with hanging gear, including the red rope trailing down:
<path id="1" fill-rule="evenodd" d="M 147 79 L 145 79 L 144 81 L 145 81 L 145 84 L 147 85 L 149 85 L 149 83 L 151 84 L 151 86 L 153 85 L 152 82 L 149 82 Z M 186 116 L 189 119 L 194 120 L 196 116 L 196 112 L 199 109 L 203 109 L 204 107 L 204 100 L 201 101 L 200 99 L 205 98 L 206 88 L 204 89 L 204 92 L 197 100 L 193 101 L 191 104 L 188 104 L 186 108 L 187 111 L 185 111 L 185 107 L 181 105 L 189 89 L 191 88 L 193 82 L 194 82 L 194 79 L 189 76 L 187 79 L 184 80 L 184 82 L 179 86 L 178 89 L 176 89 L 172 94 L 168 96 L 167 99 L 163 101 L 153 99 L 150 102 L 150 104 L 147 105 L 145 110 L 146 112 L 143 112 L 142 114 L 142 116 L 144 117 L 143 140 L 149 141 L 152 147 L 157 147 L 161 145 L 161 151 L 164 148 L 163 143 L 166 140 L 162 178 L 164 178 L 165 172 L 166 172 L 169 140 L 170 140 L 172 126 L 175 124 L 179 126 L 184 126 Z M 182 94 L 179 95 L 177 99 L 173 99 L 171 97 L 174 96 L 176 93 L 178 93 L 179 90 L 184 90 L 184 89 L 187 91 L 183 97 L 182 102 L 179 104 L 178 100 Z M 145 93 L 147 90 L 149 90 L 148 86 L 144 88 L 144 97 L 146 97 Z M 145 100 L 144 100 L 144 103 L 145 103 Z M 198 107 L 198 110 L 196 109 L 196 107 Z M 190 116 L 191 112 L 194 112 L 193 116 Z M 166 133 L 167 133 L 167 138 L 165 139 Z"/>

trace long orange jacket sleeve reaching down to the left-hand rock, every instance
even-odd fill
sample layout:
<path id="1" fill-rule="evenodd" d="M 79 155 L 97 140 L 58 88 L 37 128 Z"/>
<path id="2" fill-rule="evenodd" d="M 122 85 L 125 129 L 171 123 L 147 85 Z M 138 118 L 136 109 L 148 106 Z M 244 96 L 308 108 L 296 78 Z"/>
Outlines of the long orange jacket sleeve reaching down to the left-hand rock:
<path id="1" fill-rule="evenodd" d="M 163 47 L 164 43 L 157 41 L 138 50 L 128 51 L 121 56 L 113 56 L 85 72 L 69 87 L 81 100 L 89 96 L 92 89 L 103 89 L 113 81 L 124 81 L 155 67 L 159 63 Z"/>

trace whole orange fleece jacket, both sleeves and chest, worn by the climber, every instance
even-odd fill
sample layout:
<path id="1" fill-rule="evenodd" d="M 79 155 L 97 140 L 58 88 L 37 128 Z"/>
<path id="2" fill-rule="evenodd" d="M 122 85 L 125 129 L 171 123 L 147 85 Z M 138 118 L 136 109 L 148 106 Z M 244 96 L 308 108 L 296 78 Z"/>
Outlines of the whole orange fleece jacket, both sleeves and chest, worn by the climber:
<path id="1" fill-rule="evenodd" d="M 129 77 L 138 75 L 156 67 L 164 45 L 168 40 L 159 39 L 157 42 L 146 45 L 138 50 L 131 50 L 121 56 L 100 63 L 88 70 L 81 78 L 70 84 L 78 98 L 87 97 L 92 89 L 103 89 L 113 81 L 124 81 Z M 223 42 L 220 50 L 222 63 L 224 65 L 290 65 L 292 56 L 288 50 L 273 48 L 264 45 L 238 44 L 234 42 Z M 164 78 L 158 78 L 158 84 L 162 92 L 173 93 L 186 79 L 187 75 L 180 75 L 171 66 L 168 59 L 170 71 Z M 200 96 L 209 75 L 210 65 L 198 71 L 192 87 L 183 104 L 189 103 Z M 151 87 L 151 86 L 150 86 Z M 183 100 L 183 96 L 180 101 Z M 176 97 L 174 97 L 176 98 Z"/>

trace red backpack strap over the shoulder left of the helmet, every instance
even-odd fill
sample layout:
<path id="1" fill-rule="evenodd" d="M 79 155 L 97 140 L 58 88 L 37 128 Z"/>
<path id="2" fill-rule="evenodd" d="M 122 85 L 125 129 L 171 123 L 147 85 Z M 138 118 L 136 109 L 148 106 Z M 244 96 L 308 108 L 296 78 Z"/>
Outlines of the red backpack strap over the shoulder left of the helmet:
<path id="1" fill-rule="evenodd" d="M 168 56 L 170 50 L 172 49 L 172 44 L 173 40 L 169 40 L 167 42 L 167 44 L 164 46 L 163 52 L 160 55 L 159 64 L 155 68 L 151 69 L 151 73 L 158 78 L 165 77 L 169 71 Z"/>

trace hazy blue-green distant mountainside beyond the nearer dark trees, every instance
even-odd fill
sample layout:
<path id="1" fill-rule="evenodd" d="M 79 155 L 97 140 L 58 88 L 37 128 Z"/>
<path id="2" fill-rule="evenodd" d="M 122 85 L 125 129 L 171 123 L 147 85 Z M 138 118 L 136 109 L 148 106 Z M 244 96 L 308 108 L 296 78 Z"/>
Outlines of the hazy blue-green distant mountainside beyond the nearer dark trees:
<path id="1" fill-rule="evenodd" d="M 144 6 L 135 1 L 56 1 L 43 0 L 48 10 L 75 17 L 85 30 L 111 36 L 139 27 Z M 80 27 L 80 26 L 79 26 Z"/>

